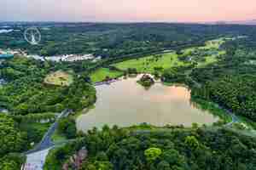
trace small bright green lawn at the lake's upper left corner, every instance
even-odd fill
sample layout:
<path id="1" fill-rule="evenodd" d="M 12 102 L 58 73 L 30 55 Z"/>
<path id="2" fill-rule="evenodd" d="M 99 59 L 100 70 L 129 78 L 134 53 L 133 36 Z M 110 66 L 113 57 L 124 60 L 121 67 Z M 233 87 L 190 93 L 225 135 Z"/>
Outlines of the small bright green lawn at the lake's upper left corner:
<path id="1" fill-rule="evenodd" d="M 110 71 L 108 68 L 100 68 L 90 75 L 92 82 L 102 82 L 106 77 L 115 78 L 123 75 L 121 71 Z"/>

